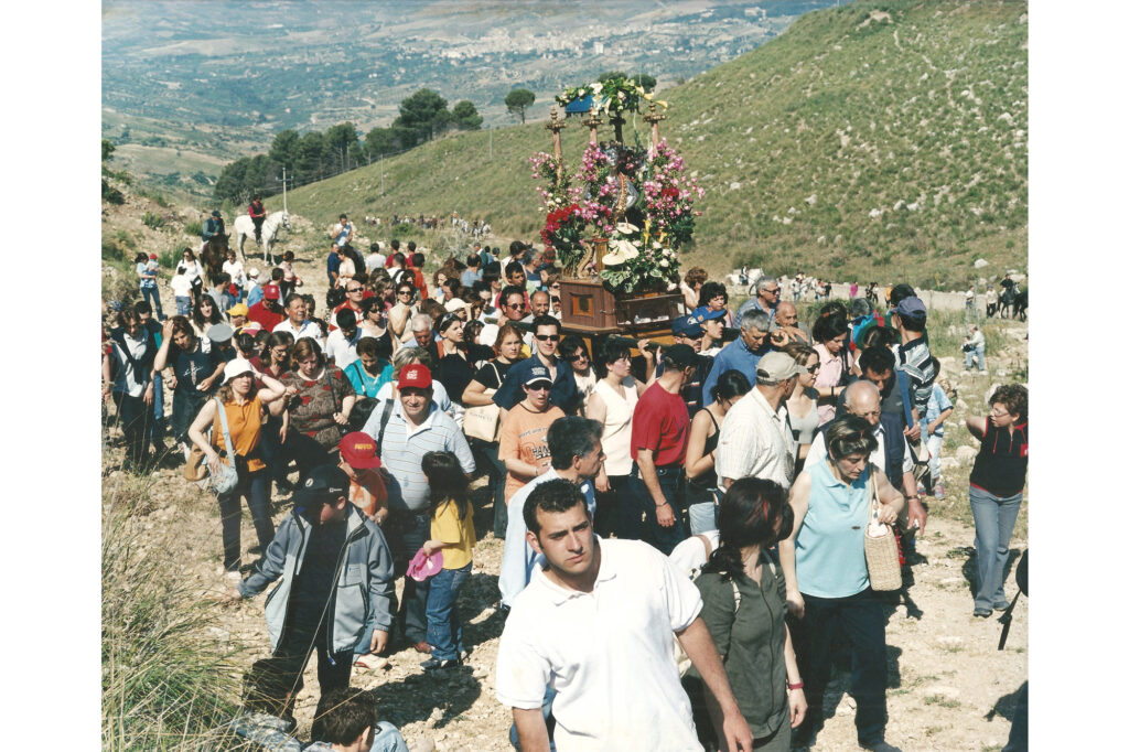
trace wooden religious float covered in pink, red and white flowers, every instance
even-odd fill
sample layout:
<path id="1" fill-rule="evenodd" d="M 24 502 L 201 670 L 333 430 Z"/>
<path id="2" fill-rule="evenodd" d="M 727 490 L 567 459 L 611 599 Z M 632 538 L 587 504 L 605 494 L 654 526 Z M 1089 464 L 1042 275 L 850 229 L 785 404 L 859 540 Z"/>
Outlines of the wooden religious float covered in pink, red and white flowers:
<path id="1" fill-rule="evenodd" d="M 612 333 L 667 340 L 671 322 L 681 315 L 679 251 L 688 250 L 693 202 L 703 195 L 684 173 L 682 157 L 659 139 L 658 124 L 667 107 L 630 79 L 568 88 L 557 97 L 545 124 L 552 154 L 531 158 L 540 189 L 545 225 L 541 239 L 561 266 L 564 330 L 594 344 Z M 644 112 L 646 105 L 646 112 Z M 588 142 L 579 165 L 570 170 L 561 148 L 561 131 L 570 115 L 584 116 Z M 650 126 L 645 147 L 639 133 L 623 139 L 631 115 Z M 601 141 L 602 116 L 614 129 Z M 634 129 L 632 129 L 633 131 Z"/>

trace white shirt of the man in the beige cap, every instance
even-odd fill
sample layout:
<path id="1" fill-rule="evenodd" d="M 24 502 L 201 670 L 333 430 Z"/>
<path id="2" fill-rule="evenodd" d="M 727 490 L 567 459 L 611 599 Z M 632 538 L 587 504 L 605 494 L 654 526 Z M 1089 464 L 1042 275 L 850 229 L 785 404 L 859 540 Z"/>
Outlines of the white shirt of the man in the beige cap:
<path id="1" fill-rule="evenodd" d="M 761 478 L 791 486 L 798 445 L 791 435 L 788 406 L 772 410 L 755 386 L 729 409 L 717 440 L 717 476 Z"/>

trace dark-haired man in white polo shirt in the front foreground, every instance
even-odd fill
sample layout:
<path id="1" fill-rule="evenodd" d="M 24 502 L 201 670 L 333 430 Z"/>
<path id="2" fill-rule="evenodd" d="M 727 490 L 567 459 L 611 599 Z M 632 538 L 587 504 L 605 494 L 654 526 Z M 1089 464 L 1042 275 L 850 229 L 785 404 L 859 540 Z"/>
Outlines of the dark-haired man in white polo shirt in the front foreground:
<path id="1" fill-rule="evenodd" d="M 546 566 L 515 598 L 498 648 L 498 700 L 513 708 L 524 752 L 549 750 L 542 714 L 555 691 L 553 743 L 572 750 L 701 750 L 671 636 L 718 700 L 728 749 L 751 750 L 701 596 L 657 550 L 598 540 L 584 493 L 561 479 L 524 509 L 527 540 Z"/>

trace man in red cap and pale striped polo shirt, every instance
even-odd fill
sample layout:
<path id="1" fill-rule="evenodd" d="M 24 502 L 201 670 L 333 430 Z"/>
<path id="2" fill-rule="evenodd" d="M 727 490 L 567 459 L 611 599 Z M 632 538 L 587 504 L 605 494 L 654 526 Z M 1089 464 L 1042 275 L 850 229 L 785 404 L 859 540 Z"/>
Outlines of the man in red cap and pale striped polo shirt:
<path id="1" fill-rule="evenodd" d="M 399 397 L 374 410 L 362 430 L 376 437 L 380 463 L 388 472 L 388 518 L 382 528 L 392 549 L 396 577 L 402 577 L 431 533 L 423 455 L 453 452 L 467 476 L 474 472 L 474 458 L 455 420 L 431 410 L 431 371 L 427 366 L 405 366 L 396 387 Z M 427 644 L 427 582 L 405 578 L 404 601 L 396 613 L 397 630 L 403 630 L 404 638 L 419 653 L 431 652 Z"/>

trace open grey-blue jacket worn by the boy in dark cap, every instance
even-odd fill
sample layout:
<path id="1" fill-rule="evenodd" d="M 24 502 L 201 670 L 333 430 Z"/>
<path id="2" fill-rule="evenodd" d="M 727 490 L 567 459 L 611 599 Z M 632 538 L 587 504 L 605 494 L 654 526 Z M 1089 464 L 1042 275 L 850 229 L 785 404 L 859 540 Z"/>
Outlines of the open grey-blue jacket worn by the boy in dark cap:
<path id="1" fill-rule="evenodd" d="M 350 504 L 348 510 L 344 554 L 338 560 L 336 586 L 330 595 L 333 621 L 329 624 L 326 642 L 334 653 L 352 650 L 366 631 L 388 631 L 392 627 L 394 579 L 388 544 L 380 528 L 357 507 Z M 305 518 L 291 511 L 279 525 L 274 540 L 266 546 L 254 571 L 239 583 L 239 594 L 251 597 L 282 577 L 282 582 L 266 596 L 264 606 L 271 653 L 278 652 L 286 637 L 290 592 L 301 571 L 309 528 Z"/>

